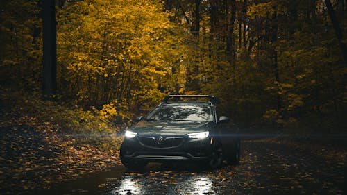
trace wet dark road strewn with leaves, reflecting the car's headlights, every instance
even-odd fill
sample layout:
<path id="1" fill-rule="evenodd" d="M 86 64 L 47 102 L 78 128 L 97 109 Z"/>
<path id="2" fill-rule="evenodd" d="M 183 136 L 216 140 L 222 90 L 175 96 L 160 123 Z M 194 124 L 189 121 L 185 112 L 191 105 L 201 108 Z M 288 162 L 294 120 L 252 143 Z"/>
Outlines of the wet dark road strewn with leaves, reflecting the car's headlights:
<path id="1" fill-rule="evenodd" d="M 248 140 L 238 166 L 208 171 L 201 164 L 149 164 L 140 172 L 115 167 L 40 194 L 347 194 L 346 168 L 346 153 L 338 150 Z"/>

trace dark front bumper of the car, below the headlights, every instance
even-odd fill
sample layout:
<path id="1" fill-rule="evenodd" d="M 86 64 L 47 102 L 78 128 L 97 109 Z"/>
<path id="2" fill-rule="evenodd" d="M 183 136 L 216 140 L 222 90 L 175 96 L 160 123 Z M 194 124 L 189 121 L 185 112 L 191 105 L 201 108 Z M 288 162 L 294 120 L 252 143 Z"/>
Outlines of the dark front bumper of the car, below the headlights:
<path id="1" fill-rule="evenodd" d="M 148 146 L 139 142 L 139 137 L 124 139 L 121 145 L 121 159 L 142 162 L 196 161 L 206 160 L 211 153 L 210 139 L 184 137 L 176 146 Z"/>

